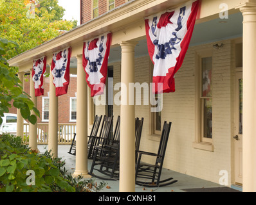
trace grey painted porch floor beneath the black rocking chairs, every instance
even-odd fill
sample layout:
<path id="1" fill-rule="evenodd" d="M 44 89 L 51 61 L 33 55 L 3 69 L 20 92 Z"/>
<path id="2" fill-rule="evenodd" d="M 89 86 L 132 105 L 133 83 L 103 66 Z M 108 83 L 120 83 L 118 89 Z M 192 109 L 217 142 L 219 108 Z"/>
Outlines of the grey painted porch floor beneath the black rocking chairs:
<path id="1" fill-rule="evenodd" d="M 44 152 L 47 149 L 47 145 L 37 145 L 40 152 Z M 66 161 L 66 170 L 69 173 L 75 172 L 75 156 L 68 154 L 70 145 L 59 145 L 58 146 L 58 156 L 62 158 L 62 160 Z M 91 168 L 92 160 L 88 160 L 88 170 Z M 169 186 L 163 186 L 160 188 L 147 188 L 143 186 L 136 185 L 136 192 L 187 192 L 187 189 L 196 189 L 191 192 L 236 192 L 237 190 L 241 191 L 241 188 L 232 186 L 232 188 L 227 188 L 225 186 L 221 186 L 220 184 L 213 183 L 210 181 L 206 181 L 203 179 L 199 179 L 197 177 L 188 176 L 186 174 L 181 174 L 179 172 L 174 172 L 172 170 L 168 170 L 166 168 L 163 169 L 161 178 L 165 179 L 167 177 L 173 177 L 178 180 L 178 182 L 174 184 L 170 184 Z M 102 179 L 95 179 L 95 181 L 105 181 Z M 104 188 L 101 192 L 119 192 L 119 181 L 105 181 L 107 183 L 106 186 L 110 188 Z M 215 188 L 215 189 L 208 189 Z M 217 189 L 216 188 L 224 188 Z"/>

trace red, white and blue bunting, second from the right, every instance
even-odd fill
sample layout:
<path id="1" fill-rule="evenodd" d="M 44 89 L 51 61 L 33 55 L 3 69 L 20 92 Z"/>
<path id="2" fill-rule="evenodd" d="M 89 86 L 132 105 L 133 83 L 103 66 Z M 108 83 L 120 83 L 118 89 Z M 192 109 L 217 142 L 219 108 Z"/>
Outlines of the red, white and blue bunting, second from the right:
<path id="1" fill-rule="evenodd" d="M 83 67 L 91 97 L 104 94 L 112 33 L 84 42 Z"/>

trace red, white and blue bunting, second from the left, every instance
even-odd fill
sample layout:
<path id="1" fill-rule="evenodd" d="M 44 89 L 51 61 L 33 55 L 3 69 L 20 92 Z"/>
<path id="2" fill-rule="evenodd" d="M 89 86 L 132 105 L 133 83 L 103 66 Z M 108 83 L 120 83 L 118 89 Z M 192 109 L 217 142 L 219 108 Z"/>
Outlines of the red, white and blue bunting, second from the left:
<path id="1" fill-rule="evenodd" d="M 53 53 L 51 74 L 56 88 L 56 96 L 64 95 L 68 92 L 70 57 L 71 47 L 58 53 Z"/>

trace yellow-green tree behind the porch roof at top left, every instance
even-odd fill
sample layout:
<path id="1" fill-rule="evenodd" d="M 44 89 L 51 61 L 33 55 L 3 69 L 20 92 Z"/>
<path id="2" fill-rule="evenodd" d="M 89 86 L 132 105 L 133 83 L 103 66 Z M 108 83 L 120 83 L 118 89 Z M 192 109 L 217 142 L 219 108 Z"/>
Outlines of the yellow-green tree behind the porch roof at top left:
<path id="1" fill-rule="evenodd" d="M 0 0 L 0 38 L 12 40 L 19 45 L 6 45 L 6 59 L 73 28 L 73 22 L 59 20 L 64 9 L 57 3 L 57 0 Z"/>

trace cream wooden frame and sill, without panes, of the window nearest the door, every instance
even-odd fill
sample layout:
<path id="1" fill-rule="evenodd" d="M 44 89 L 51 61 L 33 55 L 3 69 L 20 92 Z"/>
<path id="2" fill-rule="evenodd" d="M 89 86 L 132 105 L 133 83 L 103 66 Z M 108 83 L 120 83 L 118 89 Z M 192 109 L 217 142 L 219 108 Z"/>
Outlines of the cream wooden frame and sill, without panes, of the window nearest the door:
<path id="1" fill-rule="evenodd" d="M 212 57 L 212 75 L 213 75 L 213 64 L 214 64 L 214 58 L 212 50 L 205 50 L 201 52 L 196 53 L 196 139 L 195 142 L 193 142 L 193 147 L 196 149 L 203 149 L 206 151 L 214 151 L 214 145 L 213 145 L 213 122 L 212 122 L 212 138 L 205 138 L 203 136 L 204 133 L 204 103 L 205 99 L 212 99 L 213 102 L 213 96 L 211 97 L 203 97 L 202 94 L 202 74 L 203 74 L 203 67 L 202 67 L 202 59 Z M 211 78 L 211 81 L 213 78 Z M 213 83 L 212 83 L 213 85 Z M 213 90 L 213 87 L 211 87 Z M 214 113 L 214 108 L 212 105 L 212 114 Z M 212 120 L 213 121 L 213 120 Z"/>

